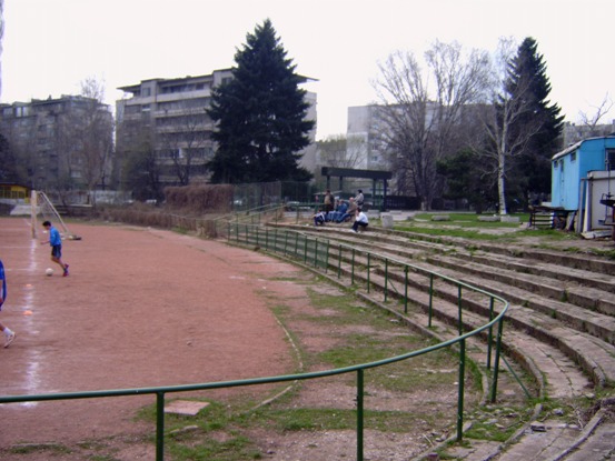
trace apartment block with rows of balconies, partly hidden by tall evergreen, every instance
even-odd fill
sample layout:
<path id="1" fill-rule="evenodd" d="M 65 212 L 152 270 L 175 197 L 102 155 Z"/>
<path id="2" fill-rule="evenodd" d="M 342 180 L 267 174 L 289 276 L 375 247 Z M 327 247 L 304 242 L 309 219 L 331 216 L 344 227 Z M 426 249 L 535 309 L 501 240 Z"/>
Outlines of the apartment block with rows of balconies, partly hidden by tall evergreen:
<path id="1" fill-rule="evenodd" d="M 127 96 L 117 101 L 117 150 L 129 154 L 142 130 L 151 136 L 159 181 L 186 186 L 209 178 L 206 164 L 214 157 L 214 122 L 207 114 L 211 92 L 231 79 L 231 69 L 176 79 L 150 79 L 119 88 Z M 316 120 L 316 96 L 307 93 L 308 118 Z M 141 133 L 141 134 L 139 134 Z M 315 131 L 311 133 L 314 141 Z"/>

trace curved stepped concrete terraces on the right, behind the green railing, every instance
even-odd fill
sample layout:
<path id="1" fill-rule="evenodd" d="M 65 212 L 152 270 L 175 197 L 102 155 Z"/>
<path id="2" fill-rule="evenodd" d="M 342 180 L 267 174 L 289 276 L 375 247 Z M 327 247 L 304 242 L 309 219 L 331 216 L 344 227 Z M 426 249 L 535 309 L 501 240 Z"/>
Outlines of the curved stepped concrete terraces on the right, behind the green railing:
<path id="1" fill-rule="evenodd" d="M 504 352 L 534 377 L 536 397 L 574 402 L 614 394 L 615 261 L 585 253 L 480 243 L 376 227 L 359 234 L 334 226 L 286 227 L 326 238 L 334 245 L 339 243 L 359 250 L 369 249 L 508 300 L 510 308 L 503 337 Z M 347 270 L 346 265 L 341 270 Z M 370 281 L 377 282 L 380 277 L 384 284 L 381 272 L 381 268 L 374 268 Z M 401 275 L 388 273 L 388 277 L 397 277 L 399 281 Z M 413 301 L 426 310 L 428 287 L 425 279 L 414 279 L 410 273 L 408 283 Z M 456 299 L 456 288 L 442 285 L 436 291 L 438 302 L 434 308 L 435 317 L 438 321 L 453 324 L 457 318 L 457 305 L 452 302 Z M 464 313 L 467 328 L 486 323 L 488 307 L 475 303 L 472 295 L 464 303 L 470 312 Z M 583 433 L 584 422 L 571 425 L 569 421 L 553 419 L 549 414 L 542 414 L 540 418 L 548 430 L 543 431 L 545 427 L 539 431 L 525 428 L 514 438 L 517 443 L 508 450 L 498 448 L 496 454 L 493 450 L 488 450 L 487 454 L 470 450 L 457 459 L 606 460 L 611 458 L 604 457 L 615 455 L 615 440 L 604 441 L 604 434 L 615 430 L 612 410 L 596 413 L 599 423 L 588 434 Z M 538 439 L 544 443 L 537 443 Z M 604 450 L 591 448 L 605 443 Z M 591 453 L 594 458 L 589 457 Z"/>

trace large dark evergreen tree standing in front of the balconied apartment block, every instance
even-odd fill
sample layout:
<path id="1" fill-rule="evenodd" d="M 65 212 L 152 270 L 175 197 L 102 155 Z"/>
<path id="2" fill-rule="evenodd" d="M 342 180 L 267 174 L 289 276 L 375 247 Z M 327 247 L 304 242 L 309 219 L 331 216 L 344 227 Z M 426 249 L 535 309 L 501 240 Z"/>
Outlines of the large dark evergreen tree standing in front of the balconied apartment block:
<path id="1" fill-rule="evenodd" d="M 297 163 L 314 121 L 306 120 L 302 78 L 286 56 L 267 19 L 235 54 L 232 79 L 214 90 L 208 110 L 218 123 L 212 133 L 218 149 L 208 164 L 212 182 L 309 180 Z"/>

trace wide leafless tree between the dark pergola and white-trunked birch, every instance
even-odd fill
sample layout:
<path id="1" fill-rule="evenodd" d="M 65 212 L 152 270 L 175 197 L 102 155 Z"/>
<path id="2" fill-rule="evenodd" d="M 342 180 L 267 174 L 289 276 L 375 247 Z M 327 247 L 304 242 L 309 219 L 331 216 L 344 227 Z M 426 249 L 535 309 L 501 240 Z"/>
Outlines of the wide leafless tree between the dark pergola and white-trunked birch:
<path id="1" fill-rule="evenodd" d="M 393 53 L 379 66 L 375 88 L 397 189 L 416 193 L 430 209 L 442 189 L 436 163 L 460 147 L 464 112 L 485 98 L 489 60 L 485 51 L 466 54 L 457 42 L 436 41 L 425 61 L 423 69 L 411 52 Z"/>

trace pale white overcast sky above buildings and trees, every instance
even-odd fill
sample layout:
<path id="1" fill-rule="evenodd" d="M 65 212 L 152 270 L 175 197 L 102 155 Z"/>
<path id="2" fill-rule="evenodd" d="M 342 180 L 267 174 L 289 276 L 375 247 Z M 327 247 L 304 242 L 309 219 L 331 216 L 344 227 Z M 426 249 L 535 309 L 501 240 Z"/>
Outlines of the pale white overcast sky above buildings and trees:
<path id="1" fill-rule="evenodd" d="M 375 101 L 378 61 L 435 39 L 492 51 L 499 37 L 534 37 L 568 121 L 615 100 L 615 0 L 4 0 L 0 100 L 78 94 L 93 77 L 115 104 L 117 87 L 234 66 L 267 18 L 297 72 L 318 79 L 317 139 L 346 133 L 348 107 Z"/>

